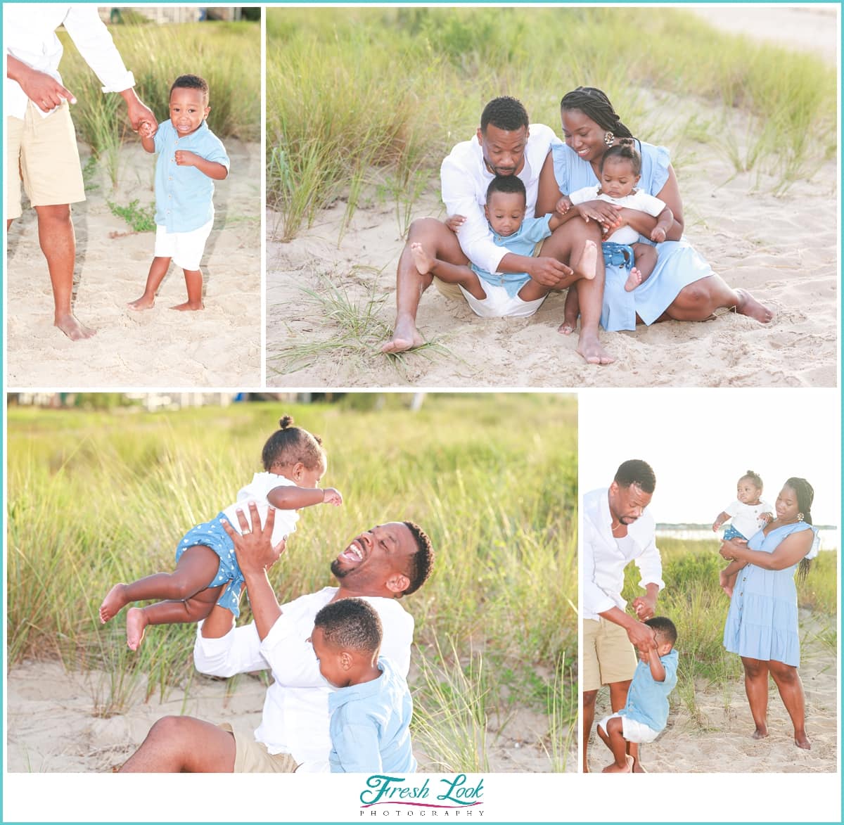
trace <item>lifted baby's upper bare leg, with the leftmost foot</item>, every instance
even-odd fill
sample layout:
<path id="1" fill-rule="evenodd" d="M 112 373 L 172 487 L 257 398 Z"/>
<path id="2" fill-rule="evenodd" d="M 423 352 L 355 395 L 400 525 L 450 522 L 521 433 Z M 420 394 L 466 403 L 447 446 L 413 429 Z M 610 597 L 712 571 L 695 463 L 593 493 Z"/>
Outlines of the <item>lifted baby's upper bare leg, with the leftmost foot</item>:
<path id="1" fill-rule="evenodd" d="M 195 545 L 181 554 L 172 573 L 154 573 L 129 585 L 114 585 L 100 605 L 100 622 L 115 617 L 130 601 L 176 599 L 183 601 L 205 590 L 217 575 L 219 556 L 210 547 Z"/>

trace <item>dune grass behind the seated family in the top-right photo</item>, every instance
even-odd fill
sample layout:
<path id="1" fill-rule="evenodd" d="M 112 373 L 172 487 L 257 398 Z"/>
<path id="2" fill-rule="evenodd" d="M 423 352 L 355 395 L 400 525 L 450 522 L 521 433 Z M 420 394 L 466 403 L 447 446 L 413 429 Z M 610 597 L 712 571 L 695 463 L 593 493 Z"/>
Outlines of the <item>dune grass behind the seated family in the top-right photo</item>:
<path id="1" fill-rule="evenodd" d="M 267 30 L 277 240 L 341 197 L 348 222 L 385 169 L 412 206 L 414 175 L 436 185 L 441 159 L 496 94 L 559 132 L 562 94 L 598 86 L 638 137 L 672 148 L 675 167 L 702 141 L 737 173 L 775 175 L 778 189 L 836 151 L 833 67 L 681 8 L 272 8 Z"/>

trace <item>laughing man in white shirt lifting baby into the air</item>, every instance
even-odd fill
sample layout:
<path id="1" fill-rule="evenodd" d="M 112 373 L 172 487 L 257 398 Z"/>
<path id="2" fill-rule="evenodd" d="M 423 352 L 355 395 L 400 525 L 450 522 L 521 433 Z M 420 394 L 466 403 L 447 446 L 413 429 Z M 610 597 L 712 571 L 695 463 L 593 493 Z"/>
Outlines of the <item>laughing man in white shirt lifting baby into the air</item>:
<path id="1" fill-rule="evenodd" d="M 434 551 L 430 539 L 410 521 L 391 522 L 361 533 L 331 565 L 339 587 L 326 587 L 279 606 L 267 569 L 279 558 L 283 543 L 273 547 L 275 510 L 263 528 L 254 503 L 250 525 L 241 513 L 243 535 L 227 526 L 235 542 L 254 621 L 234 628 L 229 610 L 216 606 L 197 630 L 193 650 L 197 670 L 233 676 L 269 669 L 261 725 L 251 732 L 232 731 L 189 716 L 165 716 L 123 765 L 134 773 L 262 772 L 290 773 L 328 768 L 328 693 L 311 646 L 317 612 L 331 601 L 365 598 L 381 617 L 381 653 L 406 677 L 414 620 L 398 604 L 430 573 Z"/>

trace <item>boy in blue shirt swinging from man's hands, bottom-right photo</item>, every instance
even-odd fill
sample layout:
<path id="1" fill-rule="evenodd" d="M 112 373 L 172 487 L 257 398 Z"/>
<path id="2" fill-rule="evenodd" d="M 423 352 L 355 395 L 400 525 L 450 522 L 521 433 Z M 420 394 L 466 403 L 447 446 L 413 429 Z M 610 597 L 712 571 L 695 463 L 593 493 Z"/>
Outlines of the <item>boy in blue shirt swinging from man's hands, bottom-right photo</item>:
<path id="1" fill-rule="evenodd" d="M 598 736 L 613 752 L 613 762 L 604 774 L 630 774 L 633 757 L 627 752 L 630 742 L 652 742 L 668 724 L 668 694 L 677 684 L 677 628 L 664 616 L 645 623 L 653 631 L 656 647 L 639 651 L 639 664 L 630 682 L 625 706 L 598 722 Z"/>

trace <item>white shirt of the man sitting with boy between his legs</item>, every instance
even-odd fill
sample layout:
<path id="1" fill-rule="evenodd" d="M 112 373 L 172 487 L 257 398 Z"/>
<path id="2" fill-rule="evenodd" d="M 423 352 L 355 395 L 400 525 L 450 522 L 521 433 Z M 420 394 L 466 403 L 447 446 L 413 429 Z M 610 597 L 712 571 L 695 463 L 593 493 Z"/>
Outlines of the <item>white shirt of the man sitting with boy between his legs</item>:
<path id="1" fill-rule="evenodd" d="M 553 143 L 560 143 L 554 130 L 542 123 L 528 127 L 524 165 L 517 177 L 527 190 L 527 212 L 533 217 L 539 189 L 539 173 Z M 457 230 L 457 240 L 463 254 L 475 266 L 486 272 L 498 272 L 498 265 L 507 250 L 492 240 L 490 224 L 484 215 L 486 191 L 495 177 L 484 164 L 484 152 L 478 136 L 457 143 L 440 167 L 442 202 L 449 215 L 463 215 L 465 223 Z"/>

